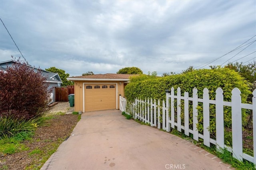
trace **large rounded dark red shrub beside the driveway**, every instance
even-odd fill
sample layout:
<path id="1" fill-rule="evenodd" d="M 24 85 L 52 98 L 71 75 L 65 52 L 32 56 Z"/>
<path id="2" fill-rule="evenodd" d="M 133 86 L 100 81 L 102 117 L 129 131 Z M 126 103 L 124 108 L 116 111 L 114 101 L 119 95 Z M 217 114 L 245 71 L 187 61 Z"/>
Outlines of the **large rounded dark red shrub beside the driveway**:
<path id="1" fill-rule="evenodd" d="M 25 63 L 18 61 L 0 71 L 0 117 L 31 119 L 47 109 L 48 84 L 46 78 Z"/>

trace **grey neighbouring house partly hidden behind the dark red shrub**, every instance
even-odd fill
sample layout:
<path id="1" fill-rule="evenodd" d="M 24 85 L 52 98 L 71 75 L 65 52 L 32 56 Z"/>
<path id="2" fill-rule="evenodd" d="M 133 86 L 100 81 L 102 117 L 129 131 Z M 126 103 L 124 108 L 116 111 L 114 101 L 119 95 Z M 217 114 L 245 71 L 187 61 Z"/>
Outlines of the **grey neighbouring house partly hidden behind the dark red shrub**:
<path id="1" fill-rule="evenodd" d="M 0 70 L 6 72 L 7 67 L 12 66 L 12 64 L 17 63 L 14 60 L 8 60 L 8 61 L 2 61 L 0 62 Z M 59 87 L 62 84 L 62 81 L 60 79 L 60 76 L 58 73 L 53 73 L 53 72 L 49 72 L 46 70 L 42 70 L 41 68 L 36 68 L 34 66 L 28 65 L 27 66 L 31 67 L 32 69 L 34 69 L 35 72 L 38 72 L 40 70 L 42 76 L 46 77 L 46 81 L 45 83 L 47 83 L 48 89 L 50 88 L 54 88 L 54 87 Z M 52 95 L 52 102 L 55 102 L 55 89 L 53 89 L 53 95 Z"/>

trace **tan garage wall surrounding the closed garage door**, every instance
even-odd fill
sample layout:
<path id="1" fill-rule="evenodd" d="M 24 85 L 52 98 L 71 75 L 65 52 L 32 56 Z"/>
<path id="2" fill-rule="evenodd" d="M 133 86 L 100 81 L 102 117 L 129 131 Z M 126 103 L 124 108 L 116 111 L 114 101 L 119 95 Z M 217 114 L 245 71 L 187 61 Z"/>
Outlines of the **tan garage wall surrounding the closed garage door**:
<path id="1" fill-rule="evenodd" d="M 74 93 L 75 93 L 75 111 L 84 111 L 83 109 L 83 88 L 84 83 L 115 83 L 117 84 L 117 106 L 119 109 L 119 95 L 124 96 L 124 82 L 116 81 L 74 81 Z"/>

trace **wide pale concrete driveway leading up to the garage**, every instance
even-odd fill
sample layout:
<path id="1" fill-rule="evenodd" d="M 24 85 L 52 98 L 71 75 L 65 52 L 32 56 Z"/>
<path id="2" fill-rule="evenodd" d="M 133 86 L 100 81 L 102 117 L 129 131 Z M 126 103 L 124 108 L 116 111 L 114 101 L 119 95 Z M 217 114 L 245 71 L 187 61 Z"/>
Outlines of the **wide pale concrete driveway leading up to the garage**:
<path id="1" fill-rule="evenodd" d="M 119 110 L 83 113 L 70 137 L 42 170 L 225 170 L 219 158 Z M 233 168 L 231 168 L 233 169 Z"/>

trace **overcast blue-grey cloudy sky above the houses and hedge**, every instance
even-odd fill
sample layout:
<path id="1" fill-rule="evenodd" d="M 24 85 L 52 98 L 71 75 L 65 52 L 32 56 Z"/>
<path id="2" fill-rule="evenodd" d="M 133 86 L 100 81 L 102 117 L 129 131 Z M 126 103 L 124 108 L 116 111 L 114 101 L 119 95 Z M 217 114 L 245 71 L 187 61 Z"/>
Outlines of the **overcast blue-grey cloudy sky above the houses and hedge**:
<path id="1" fill-rule="evenodd" d="M 70 76 L 128 66 L 161 75 L 200 68 L 256 35 L 256 0 L 0 0 L 0 18 L 30 65 Z M 255 40 L 210 65 L 256 60 Z M 11 55 L 21 56 L 0 22 L 0 62 Z"/>

